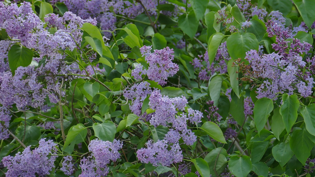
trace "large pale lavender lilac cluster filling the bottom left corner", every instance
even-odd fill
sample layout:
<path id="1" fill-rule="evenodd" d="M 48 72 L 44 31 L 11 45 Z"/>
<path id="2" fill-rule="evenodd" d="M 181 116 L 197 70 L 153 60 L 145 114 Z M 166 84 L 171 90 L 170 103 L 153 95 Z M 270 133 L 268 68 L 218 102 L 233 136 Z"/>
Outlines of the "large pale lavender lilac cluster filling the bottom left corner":
<path id="1" fill-rule="evenodd" d="M 54 161 L 58 156 L 56 155 L 57 144 L 53 140 L 45 141 L 41 139 L 39 146 L 31 151 L 28 146 L 22 153 L 15 154 L 14 157 L 3 157 L 2 162 L 8 171 L 6 176 L 12 177 L 26 177 L 26 176 L 47 176 L 55 167 Z"/>

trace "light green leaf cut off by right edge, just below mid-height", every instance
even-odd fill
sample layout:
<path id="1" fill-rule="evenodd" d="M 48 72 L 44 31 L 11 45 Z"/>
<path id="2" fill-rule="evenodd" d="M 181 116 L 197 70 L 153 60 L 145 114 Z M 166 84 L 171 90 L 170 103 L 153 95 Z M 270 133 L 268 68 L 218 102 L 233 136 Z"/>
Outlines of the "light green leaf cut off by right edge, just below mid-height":
<path id="1" fill-rule="evenodd" d="M 303 107 L 301 109 L 301 114 L 304 118 L 306 130 L 308 133 L 315 136 L 315 104 Z"/>

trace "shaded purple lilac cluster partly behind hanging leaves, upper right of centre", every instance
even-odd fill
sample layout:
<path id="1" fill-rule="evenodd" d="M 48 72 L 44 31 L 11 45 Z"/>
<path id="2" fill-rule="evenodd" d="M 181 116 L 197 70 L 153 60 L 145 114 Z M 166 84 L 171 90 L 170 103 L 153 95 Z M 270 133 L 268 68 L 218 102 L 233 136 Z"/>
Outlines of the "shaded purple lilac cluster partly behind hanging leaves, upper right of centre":
<path id="1" fill-rule="evenodd" d="M 231 59 L 227 52 L 226 42 L 221 43 L 218 47 L 218 51 L 215 55 L 214 61 L 210 64 L 208 51 L 205 52 L 204 56 L 198 55 L 198 58 L 192 60 L 194 69 L 199 71 L 198 77 L 200 80 L 209 80 L 211 75 L 215 72 L 220 74 L 227 73 L 227 62 Z M 203 57 L 203 60 L 201 59 Z M 210 71 L 210 73 L 209 73 Z"/>

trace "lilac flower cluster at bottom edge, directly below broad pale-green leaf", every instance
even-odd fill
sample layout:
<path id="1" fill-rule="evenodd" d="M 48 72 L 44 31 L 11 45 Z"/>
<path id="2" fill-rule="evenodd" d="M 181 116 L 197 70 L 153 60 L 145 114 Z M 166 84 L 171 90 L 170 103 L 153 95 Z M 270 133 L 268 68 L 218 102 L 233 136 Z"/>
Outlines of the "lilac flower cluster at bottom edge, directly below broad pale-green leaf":
<path id="1" fill-rule="evenodd" d="M 88 146 L 91 155 L 87 158 L 83 157 L 80 162 L 82 173 L 79 177 L 104 177 L 107 176 L 109 168 L 107 164 L 110 160 L 116 161 L 120 158 L 119 150 L 123 147 L 123 143 L 119 140 L 113 142 L 92 140 Z"/>

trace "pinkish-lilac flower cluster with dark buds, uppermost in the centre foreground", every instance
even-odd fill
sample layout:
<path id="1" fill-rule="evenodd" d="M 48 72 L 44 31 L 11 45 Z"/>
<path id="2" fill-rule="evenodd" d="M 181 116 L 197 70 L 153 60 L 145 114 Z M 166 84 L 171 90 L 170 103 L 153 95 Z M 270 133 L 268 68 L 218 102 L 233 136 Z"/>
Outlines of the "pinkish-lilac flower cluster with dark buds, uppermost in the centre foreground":
<path id="1" fill-rule="evenodd" d="M 178 65 L 173 63 L 174 53 L 173 49 L 166 47 L 161 50 L 154 50 L 151 53 L 152 46 L 143 46 L 140 48 L 141 54 L 145 56 L 148 64 L 148 69 L 143 69 L 143 66 L 139 64 L 131 75 L 136 79 L 140 79 L 141 75 L 146 74 L 152 81 L 157 82 L 160 85 L 165 85 L 168 77 L 174 76 L 179 70 Z"/>

